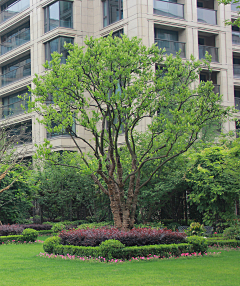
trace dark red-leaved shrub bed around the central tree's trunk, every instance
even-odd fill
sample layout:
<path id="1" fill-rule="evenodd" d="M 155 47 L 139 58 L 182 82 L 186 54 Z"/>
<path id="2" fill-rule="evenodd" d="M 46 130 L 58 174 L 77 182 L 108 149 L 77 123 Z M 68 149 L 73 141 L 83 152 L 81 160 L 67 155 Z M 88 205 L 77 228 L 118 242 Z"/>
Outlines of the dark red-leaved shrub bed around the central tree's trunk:
<path id="1" fill-rule="evenodd" d="M 61 231 L 61 244 L 76 246 L 98 246 L 102 241 L 117 239 L 126 246 L 172 244 L 185 241 L 186 234 L 169 229 L 133 228 L 119 231 L 117 228 L 78 229 Z"/>

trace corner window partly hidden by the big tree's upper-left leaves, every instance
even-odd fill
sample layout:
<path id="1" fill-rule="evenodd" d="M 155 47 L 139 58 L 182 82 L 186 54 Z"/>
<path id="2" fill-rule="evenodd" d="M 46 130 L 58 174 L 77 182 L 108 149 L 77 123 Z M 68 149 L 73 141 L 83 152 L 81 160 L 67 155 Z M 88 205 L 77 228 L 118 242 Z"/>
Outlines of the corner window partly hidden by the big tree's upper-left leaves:
<path id="1" fill-rule="evenodd" d="M 55 38 L 45 44 L 45 58 L 46 61 L 52 60 L 52 53 L 58 52 L 62 54 L 61 63 L 66 63 L 66 59 L 68 56 L 68 50 L 64 48 L 64 43 L 71 43 L 73 44 L 73 38 L 67 37 L 58 37 Z"/>

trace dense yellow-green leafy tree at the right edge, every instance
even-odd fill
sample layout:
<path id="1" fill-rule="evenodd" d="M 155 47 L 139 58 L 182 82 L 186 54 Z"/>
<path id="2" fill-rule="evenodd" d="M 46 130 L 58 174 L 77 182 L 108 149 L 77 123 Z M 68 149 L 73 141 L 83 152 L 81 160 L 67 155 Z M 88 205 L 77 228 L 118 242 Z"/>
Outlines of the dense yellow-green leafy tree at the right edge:
<path id="1" fill-rule="evenodd" d="M 190 161 L 190 202 L 197 204 L 205 224 L 222 228 L 235 217 L 239 203 L 239 146 L 205 148 L 193 153 Z"/>

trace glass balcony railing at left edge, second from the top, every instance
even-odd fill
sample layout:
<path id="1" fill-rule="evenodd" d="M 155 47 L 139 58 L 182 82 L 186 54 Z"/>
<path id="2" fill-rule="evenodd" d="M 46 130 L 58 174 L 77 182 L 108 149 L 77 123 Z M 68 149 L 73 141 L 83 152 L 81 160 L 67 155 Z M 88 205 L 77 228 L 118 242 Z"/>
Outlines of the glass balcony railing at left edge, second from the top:
<path id="1" fill-rule="evenodd" d="M 3 42 L 1 46 L 1 55 L 27 43 L 30 41 L 30 29 L 27 29 L 18 35 L 12 37 L 6 42 Z"/>

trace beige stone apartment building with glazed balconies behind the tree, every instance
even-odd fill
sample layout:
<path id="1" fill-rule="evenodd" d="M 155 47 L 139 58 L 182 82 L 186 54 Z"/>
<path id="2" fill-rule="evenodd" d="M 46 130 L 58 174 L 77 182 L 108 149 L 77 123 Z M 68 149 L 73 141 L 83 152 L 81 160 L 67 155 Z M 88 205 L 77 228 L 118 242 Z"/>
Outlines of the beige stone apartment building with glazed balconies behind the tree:
<path id="1" fill-rule="evenodd" d="M 225 26 L 224 21 L 237 17 L 236 4 L 218 5 L 217 0 L 2 0 L 0 1 L 0 120 L 15 123 L 16 132 L 24 124 L 30 134 L 29 144 L 48 138 L 55 150 L 74 150 L 74 144 L 63 130 L 48 133 L 37 114 L 26 114 L 27 92 L 34 74 L 44 72 L 43 64 L 54 51 L 67 51 L 64 42 L 84 44 L 86 36 L 142 38 L 143 44 L 156 43 L 168 54 L 189 59 L 212 55 L 212 81 L 215 91 L 223 94 L 225 106 L 236 105 L 240 111 L 240 30 Z M 199 80 L 207 80 L 202 71 Z M 31 94 L 28 95 L 31 97 Z M 17 123 L 17 124 L 16 124 Z M 76 132 L 88 138 L 83 128 Z M 225 124 L 225 130 L 239 128 Z M 89 137 L 90 138 L 90 137 Z"/>

